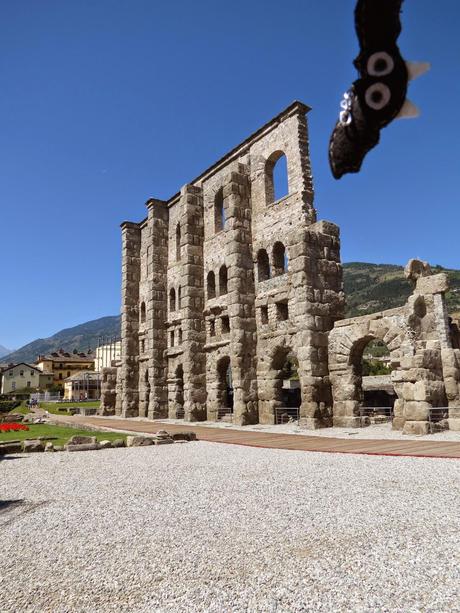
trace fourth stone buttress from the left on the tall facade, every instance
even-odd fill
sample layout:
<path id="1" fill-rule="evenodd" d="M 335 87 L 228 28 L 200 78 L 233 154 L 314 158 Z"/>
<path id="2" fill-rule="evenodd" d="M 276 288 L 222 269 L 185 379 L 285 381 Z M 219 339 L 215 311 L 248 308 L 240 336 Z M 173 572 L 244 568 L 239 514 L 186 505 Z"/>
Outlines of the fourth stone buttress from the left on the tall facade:
<path id="1" fill-rule="evenodd" d="M 248 175 L 240 164 L 224 184 L 227 211 L 226 264 L 230 364 L 233 380 L 233 421 L 257 423 L 257 328 L 255 319 L 254 265 L 252 260 L 251 206 Z"/>

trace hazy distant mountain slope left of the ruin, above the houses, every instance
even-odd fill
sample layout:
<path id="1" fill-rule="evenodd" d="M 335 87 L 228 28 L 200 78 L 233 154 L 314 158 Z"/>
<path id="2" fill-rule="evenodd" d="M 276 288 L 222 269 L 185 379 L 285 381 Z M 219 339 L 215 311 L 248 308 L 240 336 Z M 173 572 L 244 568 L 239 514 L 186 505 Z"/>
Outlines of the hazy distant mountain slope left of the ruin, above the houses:
<path id="1" fill-rule="evenodd" d="M 66 328 L 49 338 L 38 338 L 2 358 L 2 362 L 35 362 L 39 355 L 64 349 L 72 352 L 96 349 L 102 337 L 120 336 L 120 316 L 101 317 L 73 328 Z"/>

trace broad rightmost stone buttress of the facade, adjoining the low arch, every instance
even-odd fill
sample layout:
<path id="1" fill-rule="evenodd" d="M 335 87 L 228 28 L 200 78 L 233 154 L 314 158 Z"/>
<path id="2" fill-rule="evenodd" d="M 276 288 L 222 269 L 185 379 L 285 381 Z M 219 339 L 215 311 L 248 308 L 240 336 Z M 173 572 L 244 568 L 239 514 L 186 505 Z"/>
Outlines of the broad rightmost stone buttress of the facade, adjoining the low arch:
<path id="1" fill-rule="evenodd" d="M 301 231 L 291 248 L 292 282 L 295 288 L 295 318 L 302 405 L 301 425 L 320 428 L 332 425 L 332 394 L 328 367 L 328 334 L 342 319 L 339 228 L 320 221 Z"/>

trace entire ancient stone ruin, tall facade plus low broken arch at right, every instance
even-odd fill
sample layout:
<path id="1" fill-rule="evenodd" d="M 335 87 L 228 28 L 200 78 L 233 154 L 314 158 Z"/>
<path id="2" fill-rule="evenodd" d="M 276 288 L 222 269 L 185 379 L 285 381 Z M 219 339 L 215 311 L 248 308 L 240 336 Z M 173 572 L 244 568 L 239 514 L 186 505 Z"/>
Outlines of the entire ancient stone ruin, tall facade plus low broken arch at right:
<path id="1" fill-rule="evenodd" d="M 339 229 L 313 206 L 308 111 L 293 103 L 122 224 L 122 357 L 104 369 L 102 414 L 245 425 L 295 409 L 307 428 L 363 426 L 360 363 L 375 338 L 390 350 L 393 426 L 431 431 L 444 407 L 460 429 L 446 275 L 413 260 L 404 307 L 343 319 Z"/>

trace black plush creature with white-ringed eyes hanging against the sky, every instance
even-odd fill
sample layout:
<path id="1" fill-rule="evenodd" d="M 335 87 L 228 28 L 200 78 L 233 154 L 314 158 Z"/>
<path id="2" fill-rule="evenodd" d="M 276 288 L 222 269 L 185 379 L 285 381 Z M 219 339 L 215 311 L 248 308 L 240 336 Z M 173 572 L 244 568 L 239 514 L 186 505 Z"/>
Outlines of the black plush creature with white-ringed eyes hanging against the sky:
<path id="1" fill-rule="evenodd" d="M 359 172 L 366 153 L 379 142 L 380 130 L 397 117 L 419 112 L 406 98 L 407 86 L 429 64 L 405 62 L 396 41 L 401 32 L 403 0 L 358 0 L 355 9 L 360 53 L 359 72 L 344 94 L 342 111 L 329 144 L 329 163 L 336 179 Z"/>

